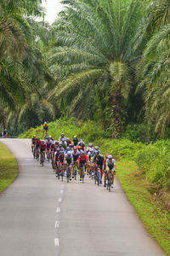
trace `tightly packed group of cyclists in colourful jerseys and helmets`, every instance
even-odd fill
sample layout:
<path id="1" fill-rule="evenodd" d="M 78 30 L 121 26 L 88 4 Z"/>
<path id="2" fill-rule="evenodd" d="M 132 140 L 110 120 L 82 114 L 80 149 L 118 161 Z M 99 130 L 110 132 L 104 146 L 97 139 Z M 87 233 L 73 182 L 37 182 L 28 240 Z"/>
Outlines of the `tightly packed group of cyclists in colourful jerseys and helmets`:
<path id="1" fill-rule="evenodd" d="M 93 143 L 88 143 L 88 147 L 85 147 L 82 139 L 78 140 L 75 136 L 71 142 L 71 139 L 66 138 L 64 133 L 61 133 L 56 142 L 52 136 L 49 136 L 47 140 L 41 140 L 35 135 L 31 139 L 31 150 L 35 158 L 40 155 L 40 163 L 42 160 L 51 160 L 55 177 L 61 175 L 61 170 L 67 169 L 71 180 L 75 177 L 76 170 L 80 174 L 80 181 L 84 174 L 92 178 L 98 175 L 99 184 L 102 184 L 104 177 L 104 187 L 110 177 L 111 188 L 113 188 L 116 160 L 111 154 L 106 154 L 104 157 L 100 154 L 99 147 L 94 146 Z"/>

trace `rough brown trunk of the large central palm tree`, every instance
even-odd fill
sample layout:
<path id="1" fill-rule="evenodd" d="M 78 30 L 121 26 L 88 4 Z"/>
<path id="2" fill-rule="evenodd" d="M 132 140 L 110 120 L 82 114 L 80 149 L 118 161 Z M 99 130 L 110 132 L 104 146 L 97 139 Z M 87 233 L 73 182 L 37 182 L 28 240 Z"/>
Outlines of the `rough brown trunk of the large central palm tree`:
<path id="1" fill-rule="evenodd" d="M 122 109 L 122 93 L 119 84 L 112 84 L 111 101 L 111 133 L 112 137 L 119 138 L 122 135 L 124 125 L 124 111 Z"/>

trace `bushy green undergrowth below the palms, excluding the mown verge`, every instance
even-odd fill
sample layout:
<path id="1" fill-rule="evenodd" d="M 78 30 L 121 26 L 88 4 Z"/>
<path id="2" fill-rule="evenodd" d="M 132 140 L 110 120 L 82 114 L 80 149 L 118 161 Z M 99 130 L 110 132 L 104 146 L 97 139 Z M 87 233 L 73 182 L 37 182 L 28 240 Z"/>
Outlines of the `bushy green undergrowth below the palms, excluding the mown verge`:
<path id="1" fill-rule="evenodd" d="M 150 183 L 170 190 L 170 141 L 162 140 L 156 143 L 135 143 L 129 139 L 111 139 L 106 131 L 94 121 L 78 121 L 77 119 L 58 119 L 49 123 L 49 135 L 58 140 L 64 132 L 71 139 L 77 135 L 85 143 L 94 143 L 101 148 L 103 154 L 113 154 L 117 159 L 134 160 L 139 170 L 144 171 L 144 177 Z M 33 135 L 42 137 L 42 126 L 26 131 L 20 138 L 31 138 Z"/>

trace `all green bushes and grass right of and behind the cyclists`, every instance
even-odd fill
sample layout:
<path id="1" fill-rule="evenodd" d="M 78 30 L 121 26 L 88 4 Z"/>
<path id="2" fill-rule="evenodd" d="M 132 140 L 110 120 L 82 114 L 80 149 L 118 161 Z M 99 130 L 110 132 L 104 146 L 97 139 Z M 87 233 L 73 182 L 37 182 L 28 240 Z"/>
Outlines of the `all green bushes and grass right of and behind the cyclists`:
<path id="1" fill-rule="evenodd" d="M 135 133 L 132 132 L 130 140 L 130 130 L 122 139 L 111 139 L 101 125 L 91 120 L 82 122 L 74 118 L 58 119 L 48 125 L 48 135 L 52 135 L 55 140 L 59 139 L 62 132 L 71 139 L 77 135 L 86 143 L 98 145 L 102 154 L 113 154 L 117 160 L 116 177 L 128 200 L 151 236 L 170 255 L 170 141 L 135 142 L 139 140 L 139 133 L 136 132 L 134 137 Z M 41 138 L 42 126 L 31 128 L 20 135 L 20 138 L 31 138 L 34 134 Z"/>

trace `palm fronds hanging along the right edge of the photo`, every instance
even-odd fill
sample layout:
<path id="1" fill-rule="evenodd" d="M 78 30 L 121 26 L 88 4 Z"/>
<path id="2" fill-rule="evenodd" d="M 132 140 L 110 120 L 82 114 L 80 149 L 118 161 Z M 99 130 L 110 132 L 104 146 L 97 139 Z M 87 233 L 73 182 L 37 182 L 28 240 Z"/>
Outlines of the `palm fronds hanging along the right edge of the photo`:
<path id="1" fill-rule="evenodd" d="M 163 137 L 170 124 L 170 1 L 155 1 L 148 10 L 145 27 L 153 34 L 139 63 L 138 90 L 144 91 L 146 122 Z"/>

